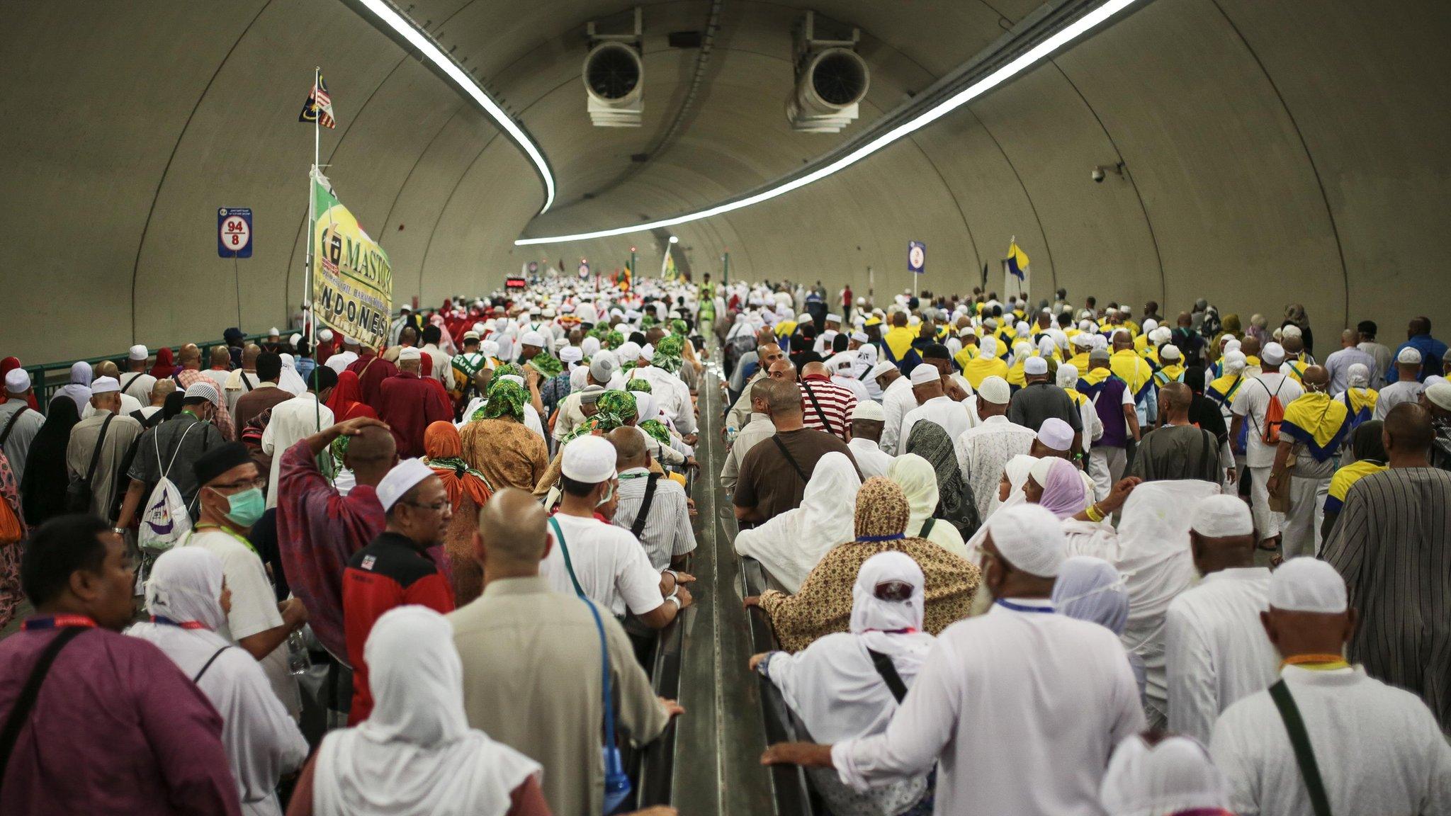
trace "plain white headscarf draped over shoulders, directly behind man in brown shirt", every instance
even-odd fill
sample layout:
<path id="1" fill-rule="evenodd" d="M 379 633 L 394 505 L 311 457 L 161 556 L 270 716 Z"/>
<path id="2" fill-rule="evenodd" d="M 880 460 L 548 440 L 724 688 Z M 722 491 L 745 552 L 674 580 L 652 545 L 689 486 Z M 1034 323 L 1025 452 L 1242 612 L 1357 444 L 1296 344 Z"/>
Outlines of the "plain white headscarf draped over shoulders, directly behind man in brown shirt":
<path id="1" fill-rule="evenodd" d="M 786 592 L 797 592 L 811 568 L 836 544 L 850 542 L 856 491 L 862 481 L 843 453 L 817 460 L 801 507 L 736 534 L 736 552 L 760 562 Z"/>

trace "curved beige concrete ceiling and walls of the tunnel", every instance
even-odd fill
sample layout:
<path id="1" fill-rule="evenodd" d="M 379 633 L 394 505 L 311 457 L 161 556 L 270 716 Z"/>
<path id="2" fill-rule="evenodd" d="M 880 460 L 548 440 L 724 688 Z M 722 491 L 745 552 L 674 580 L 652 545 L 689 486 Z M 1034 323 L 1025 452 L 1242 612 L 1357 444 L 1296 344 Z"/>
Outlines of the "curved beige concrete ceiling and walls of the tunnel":
<path id="1" fill-rule="evenodd" d="M 630 23 L 633 3 L 416 0 L 400 4 L 537 139 L 559 196 L 440 76 L 337 1 L 9 3 L 0 51 L 6 353 L 26 363 L 112 354 L 284 325 L 303 299 L 312 132 L 296 122 L 322 65 L 338 128 L 322 160 L 389 251 L 395 301 L 425 305 L 502 283 L 528 260 L 659 235 L 515 247 L 521 235 L 620 227 L 699 209 L 813 160 L 978 54 L 1036 0 L 723 0 L 711 60 L 673 138 L 707 0 L 646 1 L 644 122 L 592 128 L 585 26 Z M 791 26 L 807 9 L 856 26 L 871 68 L 860 119 L 792 132 Z M 87 19 L 75 26 L 75 19 Z M 911 283 L 969 290 L 1016 235 L 1033 296 L 1146 299 L 1277 317 L 1306 305 L 1333 347 L 1347 319 L 1396 337 L 1412 312 L 1451 319 L 1451 12 L 1431 0 L 1140 0 L 1123 19 L 843 173 L 744 211 L 675 228 L 696 274 Z M 631 155 L 650 152 L 647 161 Z M 1090 180 L 1094 166 L 1125 174 Z M 589 197 L 586 197 L 586 195 Z M 215 211 L 251 206 L 254 257 L 221 260 Z M 871 269 L 871 277 L 869 270 Z M 239 272 L 239 274 L 237 274 Z M 49 321 L 81 318 L 84 331 Z"/>

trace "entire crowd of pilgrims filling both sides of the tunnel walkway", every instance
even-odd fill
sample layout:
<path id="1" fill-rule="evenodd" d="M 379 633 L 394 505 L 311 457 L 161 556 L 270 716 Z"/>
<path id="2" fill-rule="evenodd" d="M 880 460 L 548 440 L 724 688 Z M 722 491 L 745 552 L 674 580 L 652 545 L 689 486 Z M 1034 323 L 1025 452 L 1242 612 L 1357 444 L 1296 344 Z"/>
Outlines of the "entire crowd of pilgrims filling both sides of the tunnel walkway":
<path id="1" fill-rule="evenodd" d="M 0 812 L 617 812 L 683 714 L 636 652 L 718 389 L 696 484 L 814 740 L 762 762 L 831 813 L 1451 813 L 1426 318 L 1316 357 L 1297 305 L 550 276 L 308 334 L 75 363 L 44 414 L 0 366 Z M 315 745 L 309 655 L 351 684 Z"/>

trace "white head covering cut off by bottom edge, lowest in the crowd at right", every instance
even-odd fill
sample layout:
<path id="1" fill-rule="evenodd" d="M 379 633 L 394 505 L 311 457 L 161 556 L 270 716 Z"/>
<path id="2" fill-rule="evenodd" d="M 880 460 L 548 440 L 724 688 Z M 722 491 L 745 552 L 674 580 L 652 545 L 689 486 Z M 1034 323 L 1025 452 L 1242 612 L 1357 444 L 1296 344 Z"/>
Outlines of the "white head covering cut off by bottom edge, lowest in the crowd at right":
<path id="1" fill-rule="evenodd" d="M 1149 746 L 1133 735 L 1113 751 L 1098 800 L 1114 816 L 1228 812 L 1229 781 L 1194 738 L 1174 735 Z"/>

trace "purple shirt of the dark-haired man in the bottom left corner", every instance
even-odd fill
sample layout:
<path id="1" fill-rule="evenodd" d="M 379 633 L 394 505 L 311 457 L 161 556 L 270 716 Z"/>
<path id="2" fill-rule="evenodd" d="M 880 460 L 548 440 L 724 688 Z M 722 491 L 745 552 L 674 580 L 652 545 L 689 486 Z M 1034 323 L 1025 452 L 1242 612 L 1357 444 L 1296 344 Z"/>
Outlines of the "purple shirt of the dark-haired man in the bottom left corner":
<path id="1" fill-rule="evenodd" d="M 0 720 L 59 632 L 0 640 Z M 45 675 L 10 755 L 0 813 L 239 816 L 222 717 L 149 642 L 81 632 Z"/>

